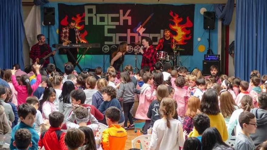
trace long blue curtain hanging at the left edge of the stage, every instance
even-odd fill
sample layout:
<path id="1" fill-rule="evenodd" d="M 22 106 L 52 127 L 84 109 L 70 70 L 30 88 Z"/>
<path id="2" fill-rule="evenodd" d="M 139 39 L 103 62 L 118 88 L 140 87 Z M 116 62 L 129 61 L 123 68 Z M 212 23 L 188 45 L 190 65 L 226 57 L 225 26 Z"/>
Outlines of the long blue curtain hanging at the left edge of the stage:
<path id="1" fill-rule="evenodd" d="M 0 0 L 0 68 L 24 68 L 24 26 L 21 0 Z"/>

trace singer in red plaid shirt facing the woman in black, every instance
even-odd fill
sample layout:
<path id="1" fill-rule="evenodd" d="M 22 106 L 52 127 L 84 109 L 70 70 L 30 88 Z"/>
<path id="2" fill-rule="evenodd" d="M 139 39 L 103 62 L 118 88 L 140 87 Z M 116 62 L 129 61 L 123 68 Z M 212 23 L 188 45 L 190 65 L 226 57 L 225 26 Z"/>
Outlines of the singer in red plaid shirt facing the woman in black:
<path id="1" fill-rule="evenodd" d="M 154 70 L 154 64 L 157 61 L 157 50 L 154 49 L 152 45 L 152 40 L 149 37 L 143 37 L 142 45 L 144 46 L 144 50 L 140 49 L 140 53 L 143 55 L 141 69 L 144 66 L 149 66 L 150 71 Z"/>

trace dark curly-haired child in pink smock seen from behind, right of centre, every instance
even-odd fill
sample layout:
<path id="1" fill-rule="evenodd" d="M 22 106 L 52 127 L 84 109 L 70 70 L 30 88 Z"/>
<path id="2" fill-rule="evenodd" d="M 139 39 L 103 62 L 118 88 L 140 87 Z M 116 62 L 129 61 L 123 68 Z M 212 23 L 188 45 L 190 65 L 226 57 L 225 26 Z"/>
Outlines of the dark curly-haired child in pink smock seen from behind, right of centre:
<path id="1" fill-rule="evenodd" d="M 178 116 L 182 118 L 185 115 L 187 100 L 190 96 L 187 90 L 183 88 L 184 84 L 185 84 L 185 79 L 183 76 L 180 76 L 175 80 L 175 85 L 177 87 L 174 88 L 175 92 L 173 96 L 173 99 L 176 100 L 178 105 L 177 107 Z"/>

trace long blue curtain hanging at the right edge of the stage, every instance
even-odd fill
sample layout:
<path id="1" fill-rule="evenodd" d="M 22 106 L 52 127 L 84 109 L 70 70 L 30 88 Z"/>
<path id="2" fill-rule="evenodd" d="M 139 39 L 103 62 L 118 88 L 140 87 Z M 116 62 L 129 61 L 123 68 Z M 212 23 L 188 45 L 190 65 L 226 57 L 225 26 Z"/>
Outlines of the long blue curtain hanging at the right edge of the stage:
<path id="1" fill-rule="evenodd" d="M 235 76 L 249 81 L 250 72 L 267 74 L 267 1 L 237 0 L 235 18 Z"/>

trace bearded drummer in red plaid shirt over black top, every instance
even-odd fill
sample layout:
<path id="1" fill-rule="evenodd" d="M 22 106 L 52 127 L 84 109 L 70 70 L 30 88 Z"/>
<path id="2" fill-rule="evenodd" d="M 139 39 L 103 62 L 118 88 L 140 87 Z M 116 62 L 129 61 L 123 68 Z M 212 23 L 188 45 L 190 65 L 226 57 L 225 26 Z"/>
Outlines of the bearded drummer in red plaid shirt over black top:
<path id="1" fill-rule="evenodd" d="M 161 38 L 158 42 L 158 45 L 156 46 L 157 51 L 164 51 L 167 52 L 168 55 L 174 56 L 173 52 L 173 43 L 174 43 L 174 38 L 171 36 L 171 32 L 169 29 L 164 29 L 164 37 Z"/>

